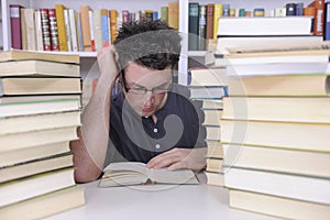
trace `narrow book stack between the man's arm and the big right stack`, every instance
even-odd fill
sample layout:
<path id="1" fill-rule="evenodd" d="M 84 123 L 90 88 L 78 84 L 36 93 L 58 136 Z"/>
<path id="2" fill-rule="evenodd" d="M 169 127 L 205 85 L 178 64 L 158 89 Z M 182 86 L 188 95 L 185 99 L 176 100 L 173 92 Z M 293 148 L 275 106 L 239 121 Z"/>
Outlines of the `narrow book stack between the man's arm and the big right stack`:
<path id="1" fill-rule="evenodd" d="M 223 152 L 220 143 L 222 98 L 227 96 L 228 77 L 223 68 L 191 69 L 189 89 L 193 100 L 201 101 L 202 125 L 206 128 L 207 183 L 223 186 Z"/>

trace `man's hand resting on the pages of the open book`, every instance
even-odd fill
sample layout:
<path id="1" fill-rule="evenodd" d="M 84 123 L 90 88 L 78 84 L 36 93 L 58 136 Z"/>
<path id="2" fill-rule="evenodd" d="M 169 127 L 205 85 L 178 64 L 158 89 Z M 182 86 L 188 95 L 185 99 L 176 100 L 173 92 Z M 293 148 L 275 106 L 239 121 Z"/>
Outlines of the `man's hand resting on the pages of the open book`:
<path id="1" fill-rule="evenodd" d="M 183 168 L 199 170 L 206 167 L 206 153 L 207 147 L 175 147 L 155 156 L 146 164 L 146 166 L 148 168 L 154 169 L 167 167 L 168 170 L 176 170 Z"/>

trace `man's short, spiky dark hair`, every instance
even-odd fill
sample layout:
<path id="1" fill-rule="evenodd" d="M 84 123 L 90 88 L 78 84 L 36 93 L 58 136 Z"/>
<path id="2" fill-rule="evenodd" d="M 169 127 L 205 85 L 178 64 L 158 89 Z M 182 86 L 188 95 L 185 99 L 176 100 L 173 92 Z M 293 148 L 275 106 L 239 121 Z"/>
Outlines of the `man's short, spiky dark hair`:
<path id="1" fill-rule="evenodd" d="M 162 20 L 123 23 L 113 42 L 121 67 L 135 62 L 163 70 L 176 68 L 180 54 L 180 35 Z"/>

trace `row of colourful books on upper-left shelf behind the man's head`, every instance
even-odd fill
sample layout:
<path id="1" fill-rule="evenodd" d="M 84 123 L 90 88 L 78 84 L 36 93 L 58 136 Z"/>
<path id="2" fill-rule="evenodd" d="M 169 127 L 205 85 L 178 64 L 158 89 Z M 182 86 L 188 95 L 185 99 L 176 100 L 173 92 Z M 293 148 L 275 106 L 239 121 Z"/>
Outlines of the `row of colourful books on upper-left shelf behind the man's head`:
<path id="1" fill-rule="evenodd" d="M 91 9 L 79 11 L 55 4 L 54 8 L 28 9 L 10 4 L 12 48 L 28 51 L 96 52 L 111 44 L 123 22 L 163 19 L 178 29 L 178 2 L 154 10 L 134 11 Z"/>

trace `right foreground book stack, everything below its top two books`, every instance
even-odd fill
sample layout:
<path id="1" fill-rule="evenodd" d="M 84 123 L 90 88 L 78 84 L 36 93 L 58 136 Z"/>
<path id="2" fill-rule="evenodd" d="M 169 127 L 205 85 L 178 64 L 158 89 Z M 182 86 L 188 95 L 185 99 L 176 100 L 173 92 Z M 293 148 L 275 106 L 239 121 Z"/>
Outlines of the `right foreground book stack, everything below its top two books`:
<path id="1" fill-rule="evenodd" d="M 329 218 L 329 55 L 307 50 L 231 56 L 237 63 L 221 119 L 231 207 Z"/>

